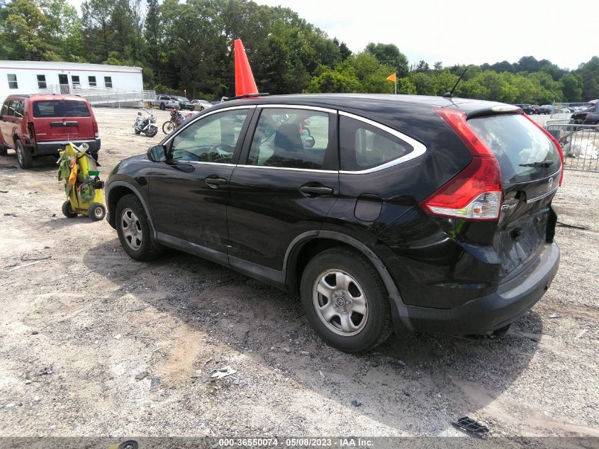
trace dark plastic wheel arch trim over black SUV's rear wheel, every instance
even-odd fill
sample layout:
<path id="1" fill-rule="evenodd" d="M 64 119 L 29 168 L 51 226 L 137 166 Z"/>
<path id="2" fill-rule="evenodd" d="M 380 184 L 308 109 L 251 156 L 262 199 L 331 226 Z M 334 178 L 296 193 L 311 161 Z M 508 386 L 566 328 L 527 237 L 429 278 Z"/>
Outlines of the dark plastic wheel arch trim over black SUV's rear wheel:
<path id="1" fill-rule="evenodd" d="M 284 270 L 286 285 L 291 291 L 297 291 L 303 270 L 312 257 L 330 248 L 346 246 L 364 255 L 379 273 L 388 293 L 391 304 L 393 327 L 398 335 L 404 335 L 413 330 L 408 318 L 408 308 L 403 304 L 393 277 L 387 267 L 373 250 L 364 243 L 349 235 L 335 231 L 308 231 L 298 235 L 289 245 L 285 254 Z"/>

